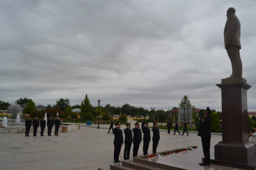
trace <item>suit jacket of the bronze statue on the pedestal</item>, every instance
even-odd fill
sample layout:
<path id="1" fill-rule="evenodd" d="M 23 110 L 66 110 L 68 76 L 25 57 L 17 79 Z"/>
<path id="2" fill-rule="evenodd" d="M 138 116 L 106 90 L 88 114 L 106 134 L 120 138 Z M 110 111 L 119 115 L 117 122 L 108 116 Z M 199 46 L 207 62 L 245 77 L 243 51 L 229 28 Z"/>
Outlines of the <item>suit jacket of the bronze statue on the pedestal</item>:
<path id="1" fill-rule="evenodd" d="M 240 27 L 240 20 L 238 20 L 236 14 L 229 14 L 224 29 L 224 43 L 226 49 L 228 46 L 237 46 L 241 49 Z M 230 41 L 231 44 L 227 44 L 227 41 Z"/>

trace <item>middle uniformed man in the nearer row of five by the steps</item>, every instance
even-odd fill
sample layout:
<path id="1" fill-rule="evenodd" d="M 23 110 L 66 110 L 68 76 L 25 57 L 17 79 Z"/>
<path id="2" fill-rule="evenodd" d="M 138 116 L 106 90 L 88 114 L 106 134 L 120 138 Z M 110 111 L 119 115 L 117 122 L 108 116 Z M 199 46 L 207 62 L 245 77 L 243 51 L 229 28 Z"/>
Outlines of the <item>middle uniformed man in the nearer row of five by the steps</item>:
<path id="1" fill-rule="evenodd" d="M 133 157 L 138 156 L 139 144 L 141 144 L 141 129 L 139 129 L 139 122 L 136 122 L 133 132 Z"/>

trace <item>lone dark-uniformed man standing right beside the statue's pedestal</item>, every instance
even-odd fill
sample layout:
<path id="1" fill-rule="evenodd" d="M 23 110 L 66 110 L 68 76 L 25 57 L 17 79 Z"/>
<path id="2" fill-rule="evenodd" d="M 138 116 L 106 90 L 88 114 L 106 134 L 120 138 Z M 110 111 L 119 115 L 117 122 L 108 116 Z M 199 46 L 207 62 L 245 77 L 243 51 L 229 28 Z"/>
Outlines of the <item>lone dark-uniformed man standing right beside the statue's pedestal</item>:
<path id="1" fill-rule="evenodd" d="M 198 135 L 201 137 L 202 146 L 203 146 L 203 155 L 204 155 L 204 163 L 199 163 L 199 165 L 210 165 L 210 141 L 211 141 L 211 124 L 212 124 L 212 118 L 210 117 L 210 114 L 212 113 L 212 110 L 207 107 L 205 109 L 205 117 L 203 117 L 199 124 L 198 129 Z"/>

